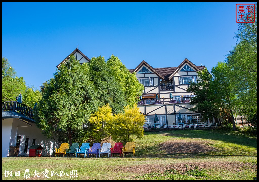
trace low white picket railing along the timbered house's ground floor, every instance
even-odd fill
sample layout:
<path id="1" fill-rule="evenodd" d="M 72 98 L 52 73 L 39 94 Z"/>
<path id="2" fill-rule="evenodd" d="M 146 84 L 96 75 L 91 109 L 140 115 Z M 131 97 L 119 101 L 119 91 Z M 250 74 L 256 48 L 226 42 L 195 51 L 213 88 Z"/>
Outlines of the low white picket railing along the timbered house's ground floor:
<path id="1" fill-rule="evenodd" d="M 177 125 L 156 125 L 156 126 L 148 126 L 148 125 L 144 125 L 143 129 L 160 129 L 160 128 L 207 128 L 207 127 L 219 127 L 218 123 L 211 123 L 211 124 L 177 124 Z"/>

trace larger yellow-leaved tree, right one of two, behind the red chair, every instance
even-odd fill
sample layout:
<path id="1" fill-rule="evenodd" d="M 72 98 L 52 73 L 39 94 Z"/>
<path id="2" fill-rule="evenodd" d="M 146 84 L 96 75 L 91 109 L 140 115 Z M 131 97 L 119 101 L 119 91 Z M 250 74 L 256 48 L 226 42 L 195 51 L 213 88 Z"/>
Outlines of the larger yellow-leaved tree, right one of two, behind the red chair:
<path id="1" fill-rule="evenodd" d="M 112 120 L 106 124 L 106 131 L 115 142 L 133 141 L 132 135 L 138 138 L 143 137 L 145 123 L 145 115 L 139 112 L 139 108 L 135 104 L 133 107 L 124 107 L 124 113 L 115 114 Z"/>

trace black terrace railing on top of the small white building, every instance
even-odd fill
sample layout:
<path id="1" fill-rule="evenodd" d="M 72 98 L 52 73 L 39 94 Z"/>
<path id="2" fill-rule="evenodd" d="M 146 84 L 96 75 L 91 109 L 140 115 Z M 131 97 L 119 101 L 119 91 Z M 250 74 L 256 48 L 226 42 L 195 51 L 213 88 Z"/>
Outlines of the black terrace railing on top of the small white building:
<path id="1" fill-rule="evenodd" d="M 16 101 L 2 102 L 2 111 L 14 111 L 33 118 L 34 109 Z"/>

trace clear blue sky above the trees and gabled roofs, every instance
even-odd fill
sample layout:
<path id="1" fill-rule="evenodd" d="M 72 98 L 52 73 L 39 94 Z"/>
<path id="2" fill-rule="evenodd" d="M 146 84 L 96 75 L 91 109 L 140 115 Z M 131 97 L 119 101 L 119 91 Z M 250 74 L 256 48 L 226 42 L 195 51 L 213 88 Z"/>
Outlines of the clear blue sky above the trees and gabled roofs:
<path id="1" fill-rule="evenodd" d="M 128 69 L 187 58 L 210 70 L 236 45 L 236 4 L 2 2 L 2 57 L 37 89 L 77 45 L 90 59 L 118 56 Z"/>

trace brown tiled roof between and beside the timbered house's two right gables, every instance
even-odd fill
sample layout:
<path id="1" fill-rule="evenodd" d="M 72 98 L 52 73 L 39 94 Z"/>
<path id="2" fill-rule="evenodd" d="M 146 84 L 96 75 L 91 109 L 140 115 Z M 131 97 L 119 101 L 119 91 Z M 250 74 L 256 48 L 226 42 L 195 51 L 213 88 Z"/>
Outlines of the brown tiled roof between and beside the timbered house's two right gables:
<path id="1" fill-rule="evenodd" d="M 185 60 L 188 60 L 188 59 L 185 59 Z M 185 60 L 182 62 L 182 63 L 185 63 Z M 189 60 L 188 60 L 189 61 Z M 180 64 L 180 65 L 183 65 L 183 64 Z M 197 70 L 203 70 L 205 68 L 205 66 L 195 66 L 193 63 L 191 63 L 190 61 L 188 62 L 190 63 L 190 65 L 192 65 L 192 67 L 194 67 L 195 69 Z M 164 79 L 168 79 L 169 76 L 171 76 L 173 73 L 176 72 L 176 70 L 178 70 L 181 66 L 178 66 L 178 67 L 168 67 L 168 68 L 154 68 L 154 70 L 162 75 L 164 77 Z M 194 65 L 194 66 L 193 66 Z M 129 71 L 131 73 L 133 73 L 135 71 L 135 69 L 129 69 Z M 171 78 L 170 78 L 171 79 Z M 169 80 L 169 79 L 168 79 Z"/>

